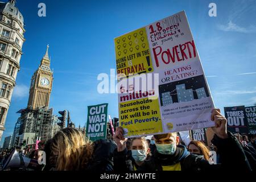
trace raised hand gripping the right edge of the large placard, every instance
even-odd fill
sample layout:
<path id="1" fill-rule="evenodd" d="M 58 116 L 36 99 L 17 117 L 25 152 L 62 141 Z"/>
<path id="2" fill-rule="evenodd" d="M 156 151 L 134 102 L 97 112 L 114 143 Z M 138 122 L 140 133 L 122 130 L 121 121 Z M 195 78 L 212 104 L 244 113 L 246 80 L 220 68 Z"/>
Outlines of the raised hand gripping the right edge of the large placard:
<path id="1" fill-rule="evenodd" d="M 220 109 L 213 109 L 212 115 L 210 116 L 212 121 L 214 121 L 215 126 L 212 127 L 213 132 L 222 139 L 228 138 L 226 118 L 221 115 Z"/>

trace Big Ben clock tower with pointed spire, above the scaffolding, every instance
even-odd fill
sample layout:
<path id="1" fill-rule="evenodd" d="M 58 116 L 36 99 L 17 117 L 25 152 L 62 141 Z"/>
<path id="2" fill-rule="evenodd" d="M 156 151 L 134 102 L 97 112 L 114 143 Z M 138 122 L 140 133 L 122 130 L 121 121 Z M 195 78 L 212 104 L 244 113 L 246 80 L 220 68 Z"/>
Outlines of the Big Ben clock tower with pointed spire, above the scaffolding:
<path id="1" fill-rule="evenodd" d="M 52 92 L 53 72 L 50 69 L 51 60 L 48 56 L 48 48 L 46 54 L 41 60 L 39 68 L 36 70 L 31 79 L 30 96 L 28 98 L 28 109 L 36 110 L 41 107 L 49 106 L 49 98 Z"/>

